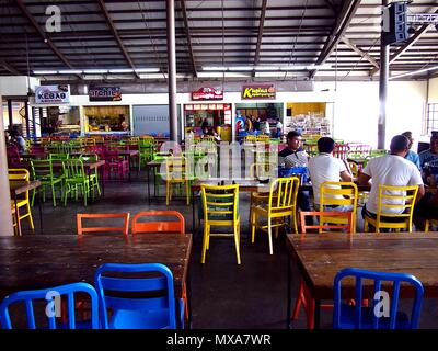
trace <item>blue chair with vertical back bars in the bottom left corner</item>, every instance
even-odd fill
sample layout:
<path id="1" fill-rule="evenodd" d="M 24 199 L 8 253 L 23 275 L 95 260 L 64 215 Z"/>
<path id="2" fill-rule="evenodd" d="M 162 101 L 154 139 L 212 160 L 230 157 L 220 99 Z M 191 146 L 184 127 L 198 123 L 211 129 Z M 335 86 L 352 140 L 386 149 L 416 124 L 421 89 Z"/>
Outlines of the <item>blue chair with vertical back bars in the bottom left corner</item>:
<path id="1" fill-rule="evenodd" d="M 84 299 L 84 294 L 90 297 L 90 320 L 76 320 L 74 293 L 81 293 L 81 299 Z M 60 299 L 58 299 L 59 297 Z M 65 297 L 67 297 L 67 310 L 61 307 L 61 301 Z M 12 329 L 9 309 L 11 305 L 16 305 L 14 307 L 18 308 L 20 305 L 19 303 L 22 303 L 26 309 L 28 329 L 39 329 L 39 327 L 36 326 L 35 320 L 34 303 L 36 303 L 36 301 L 46 301 L 44 312 L 46 315 L 45 317 L 47 318 L 47 326 L 41 327 L 42 329 L 99 329 L 97 294 L 94 287 L 88 283 L 72 283 L 49 288 L 22 291 L 8 295 L 0 304 L 0 322 L 2 328 Z M 67 324 L 59 319 L 59 317 L 65 317 L 62 316 L 65 312 L 68 317 Z M 59 319 L 58 321 L 56 320 L 57 317 Z"/>

